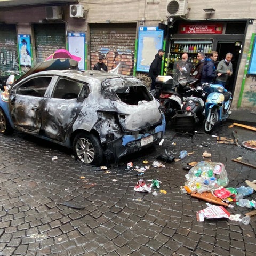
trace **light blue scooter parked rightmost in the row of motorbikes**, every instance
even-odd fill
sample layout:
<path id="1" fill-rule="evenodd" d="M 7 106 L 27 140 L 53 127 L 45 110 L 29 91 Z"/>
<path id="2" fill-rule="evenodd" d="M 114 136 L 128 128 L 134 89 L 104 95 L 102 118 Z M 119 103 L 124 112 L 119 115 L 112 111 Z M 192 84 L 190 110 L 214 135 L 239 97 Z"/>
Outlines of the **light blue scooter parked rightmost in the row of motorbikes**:
<path id="1" fill-rule="evenodd" d="M 208 93 L 205 102 L 204 131 L 210 134 L 218 125 L 231 115 L 232 93 L 220 84 L 204 84 Z"/>

